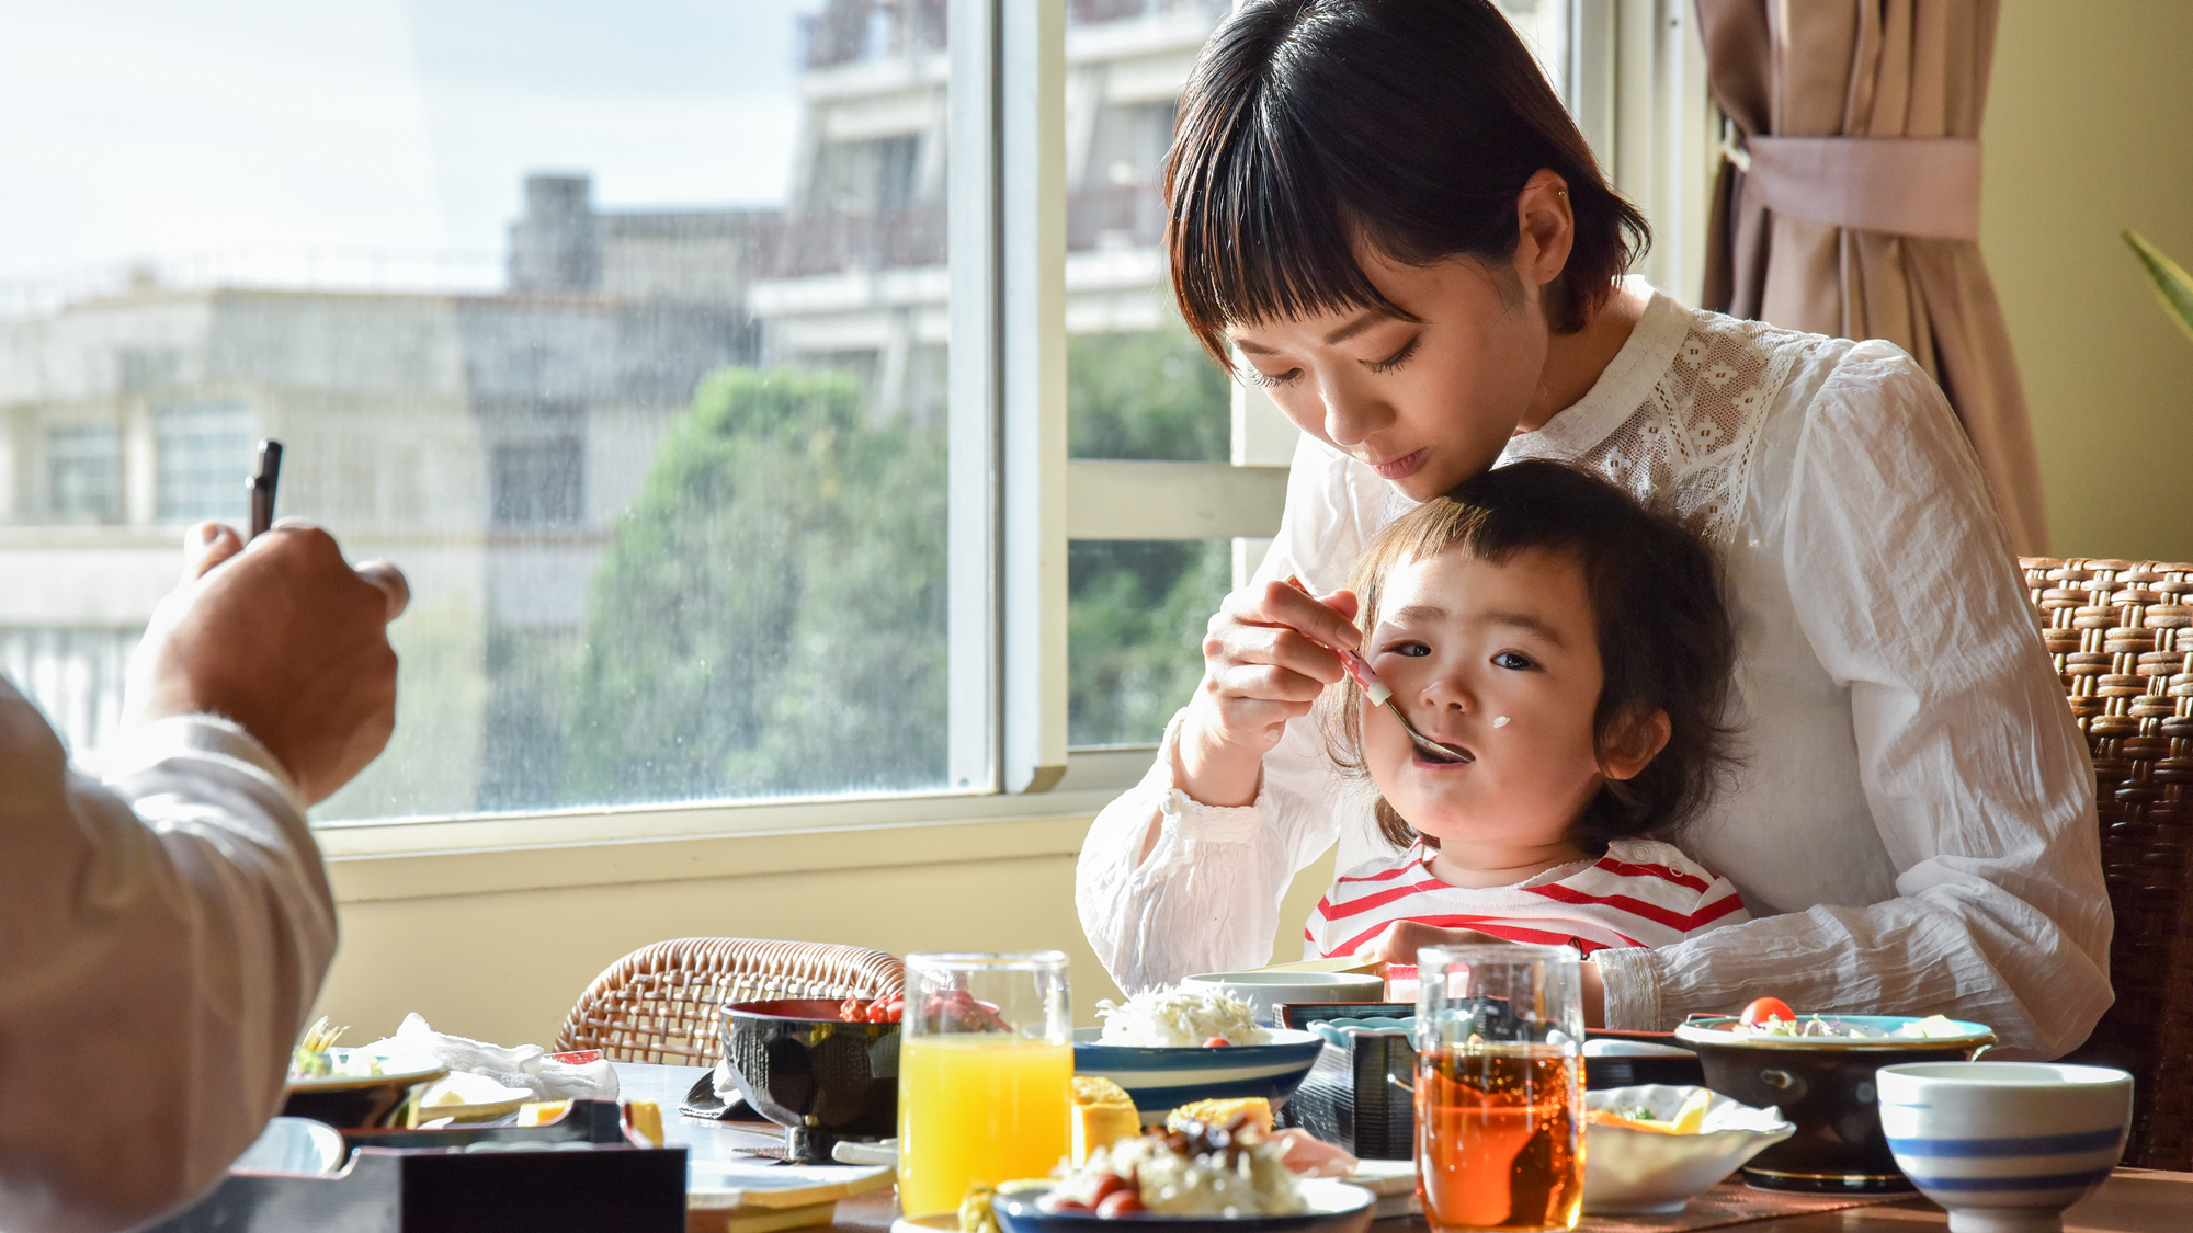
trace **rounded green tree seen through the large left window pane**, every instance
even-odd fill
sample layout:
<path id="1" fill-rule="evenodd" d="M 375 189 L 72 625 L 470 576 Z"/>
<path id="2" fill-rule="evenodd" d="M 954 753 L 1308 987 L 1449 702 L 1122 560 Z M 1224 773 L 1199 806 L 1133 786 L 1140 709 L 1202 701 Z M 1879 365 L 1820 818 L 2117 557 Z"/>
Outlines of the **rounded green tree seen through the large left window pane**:
<path id="1" fill-rule="evenodd" d="M 842 373 L 713 373 L 594 577 L 564 796 L 939 783 L 943 562 L 941 434 Z"/>

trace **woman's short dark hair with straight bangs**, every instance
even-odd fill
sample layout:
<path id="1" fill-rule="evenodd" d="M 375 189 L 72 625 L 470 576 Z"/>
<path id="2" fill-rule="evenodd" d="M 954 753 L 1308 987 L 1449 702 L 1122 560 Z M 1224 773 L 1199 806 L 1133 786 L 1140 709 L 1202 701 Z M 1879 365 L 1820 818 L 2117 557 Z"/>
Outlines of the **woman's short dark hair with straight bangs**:
<path id="1" fill-rule="evenodd" d="M 1390 303 L 1360 246 L 1430 265 L 1515 252 L 1515 197 L 1566 182 L 1575 241 L 1546 320 L 1575 333 L 1651 241 L 1491 0 L 1250 0 L 1204 44 L 1164 167 L 1173 298 L 1226 327 Z"/>

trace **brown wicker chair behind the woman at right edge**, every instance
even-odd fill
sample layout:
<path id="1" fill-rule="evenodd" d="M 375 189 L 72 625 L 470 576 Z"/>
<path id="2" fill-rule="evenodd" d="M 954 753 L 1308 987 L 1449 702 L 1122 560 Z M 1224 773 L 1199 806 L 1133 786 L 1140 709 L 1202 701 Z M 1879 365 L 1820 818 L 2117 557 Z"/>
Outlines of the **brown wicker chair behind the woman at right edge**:
<path id="1" fill-rule="evenodd" d="M 2094 753 L 2116 1005 L 2072 1057 L 2134 1075 L 2125 1163 L 2193 1165 L 2193 564 L 2026 557 Z"/>

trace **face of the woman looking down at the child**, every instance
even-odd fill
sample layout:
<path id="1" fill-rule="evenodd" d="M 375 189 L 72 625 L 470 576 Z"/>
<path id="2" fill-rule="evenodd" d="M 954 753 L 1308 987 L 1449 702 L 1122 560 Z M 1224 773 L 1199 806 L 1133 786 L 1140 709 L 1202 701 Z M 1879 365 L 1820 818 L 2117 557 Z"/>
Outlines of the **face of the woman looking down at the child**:
<path id="1" fill-rule="evenodd" d="M 1535 428 L 1524 417 L 1546 369 L 1539 283 L 1472 257 L 1404 265 L 1366 252 L 1364 272 L 1421 320 L 1357 309 L 1228 336 L 1254 369 L 1248 380 L 1303 432 L 1428 500 L 1491 467 L 1518 426 Z"/>

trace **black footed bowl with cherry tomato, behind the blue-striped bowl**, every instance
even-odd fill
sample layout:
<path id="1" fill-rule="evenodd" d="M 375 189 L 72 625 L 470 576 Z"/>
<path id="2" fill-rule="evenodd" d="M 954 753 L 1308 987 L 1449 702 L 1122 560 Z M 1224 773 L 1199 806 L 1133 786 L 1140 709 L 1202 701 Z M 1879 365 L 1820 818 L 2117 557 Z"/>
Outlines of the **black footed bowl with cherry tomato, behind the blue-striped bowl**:
<path id="1" fill-rule="evenodd" d="M 1912 1016 L 1829 1016 L 1882 1031 Z M 1847 1040 L 1820 1036 L 1735 1036 L 1728 1016 L 1695 1018 L 1675 1040 L 1697 1049 L 1706 1086 L 1752 1108 L 1779 1106 L 1796 1134 L 1752 1156 L 1743 1180 L 1761 1189 L 1825 1194 L 1908 1191 L 1888 1154 L 1873 1075 L 1904 1062 L 1967 1062 L 1996 1042 L 1978 1022 L 1954 1038 Z"/>

